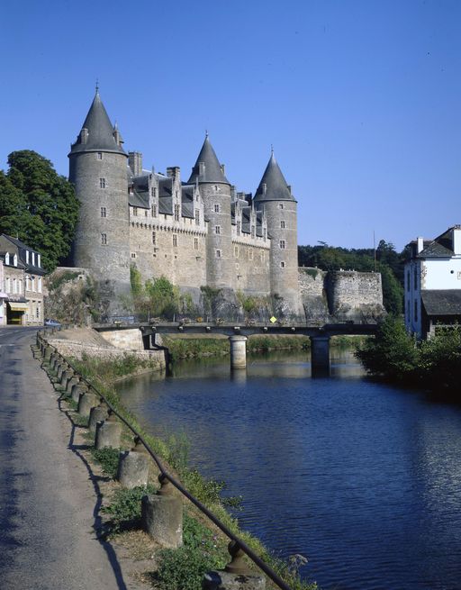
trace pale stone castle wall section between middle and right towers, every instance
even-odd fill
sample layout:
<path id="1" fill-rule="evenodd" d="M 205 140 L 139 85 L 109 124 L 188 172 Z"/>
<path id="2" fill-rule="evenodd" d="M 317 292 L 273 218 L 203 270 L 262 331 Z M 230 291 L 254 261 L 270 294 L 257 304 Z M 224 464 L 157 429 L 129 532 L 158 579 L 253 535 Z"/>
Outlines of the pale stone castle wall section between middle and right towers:
<path id="1" fill-rule="evenodd" d="M 233 286 L 246 295 L 270 295 L 269 246 L 244 240 L 232 241 Z"/>

